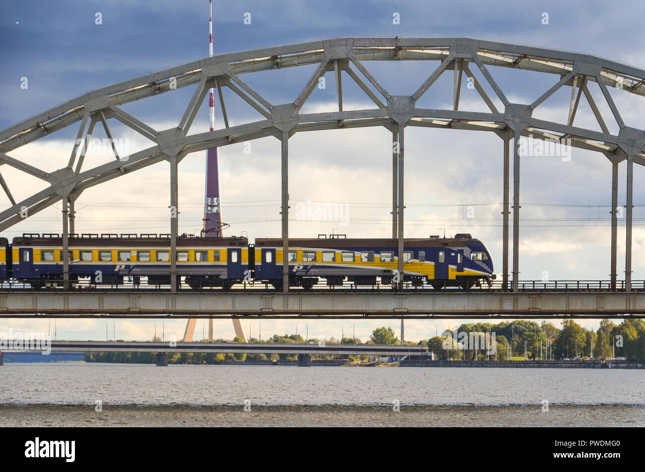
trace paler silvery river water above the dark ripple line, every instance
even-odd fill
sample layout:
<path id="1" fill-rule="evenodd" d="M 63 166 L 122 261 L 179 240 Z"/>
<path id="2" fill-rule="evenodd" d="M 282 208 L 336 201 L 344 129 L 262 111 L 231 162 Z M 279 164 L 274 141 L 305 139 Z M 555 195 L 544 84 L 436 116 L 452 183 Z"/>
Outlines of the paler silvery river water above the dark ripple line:
<path id="1" fill-rule="evenodd" d="M 6 364 L 0 403 L 645 406 L 645 371 Z"/>

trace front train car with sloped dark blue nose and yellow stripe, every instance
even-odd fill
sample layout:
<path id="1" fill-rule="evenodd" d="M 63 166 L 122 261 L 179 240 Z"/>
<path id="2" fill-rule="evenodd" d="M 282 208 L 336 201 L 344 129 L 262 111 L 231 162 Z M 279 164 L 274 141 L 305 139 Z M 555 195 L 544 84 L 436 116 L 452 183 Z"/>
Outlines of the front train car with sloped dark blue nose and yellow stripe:
<path id="1" fill-rule="evenodd" d="M 255 279 L 279 288 L 283 276 L 282 239 L 255 240 Z M 404 241 L 404 281 L 430 283 L 435 288 L 470 288 L 495 278 L 490 253 L 470 234 Z M 392 282 L 399 264 L 397 239 L 290 239 L 290 284 L 311 288 L 318 278 L 328 285 L 374 284 L 377 277 Z"/>

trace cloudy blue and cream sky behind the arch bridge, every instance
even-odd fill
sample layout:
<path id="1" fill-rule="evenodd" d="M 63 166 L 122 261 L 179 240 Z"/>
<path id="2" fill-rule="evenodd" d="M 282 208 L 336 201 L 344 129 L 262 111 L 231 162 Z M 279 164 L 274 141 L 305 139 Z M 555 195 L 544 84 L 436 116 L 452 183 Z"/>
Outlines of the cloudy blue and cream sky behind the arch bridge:
<path id="1" fill-rule="evenodd" d="M 630 12 L 626 15 L 626 12 Z M 605 57 L 642 67 L 645 41 L 640 34 L 645 6 L 638 1 L 620 8 L 601 1 L 239 1 L 213 2 L 214 54 L 243 51 L 330 37 L 465 36 L 528 44 Z M 97 14 L 101 24 L 97 25 Z M 250 14 L 250 24 L 245 17 Z M 400 24 L 393 24 L 399 14 Z M 545 15 L 548 24 L 544 24 Z M 248 23 L 248 21 L 246 22 Z M 4 130 L 81 93 L 133 77 L 164 70 L 208 55 L 208 2 L 175 1 L 6 1 L 0 5 L 0 129 Z M 365 66 L 393 95 L 410 95 L 432 73 L 436 63 L 366 61 Z M 471 68 L 472 69 L 472 68 Z M 313 74 L 301 66 L 245 74 L 243 80 L 270 103 L 292 102 Z M 550 74 L 491 67 L 491 74 L 512 103 L 531 103 L 559 80 Z M 477 75 L 477 74 L 475 74 Z M 23 77 L 28 87 L 21 88 Z M 482 77 L 478 77 L 482 79 Z M 316 88 L 303 113 L 335 110 L 333 75 Z M 362 91 L 343 77 L 344 108 L 372 108 Z M 330 86 L 331 85 L 331 86 Z M 424 95 L 419 106 L 452 108 L 452 71 Z M 595 87 L 595 88 L 594 88 Z M 610 117 L 597 84 L 590 90 L 604 116 Z M 194 87 L 124 105 L 155 130 L 177 126 Z M 231 124 L 257 119 L 252 108 L 224 88 Z M 611 90 L 628 126 L 642 128 L 645 98 Z M 564 122 L 570 88 L 543 103 L 535 117 Z M 462 86 L 460 110 L 483 111 L 474 90 Z M 502 108 L 498 104 L 498 108 Z M 216 128 L 223 126 L 216 108 Z M 114 121 L 114 120 L 110 120 Z M 150 142 L 120 124 L 110 124 L 115 139 L 127 140 L 132 153 Z M 588 105 L 581 104 L 577 126 L 596 130 Z M 608 121 L 612 133 L 617 124 Z M 47 172 L 62 168 L 69 158 L 77 125 L 9 153 Z M 96 137 L 104 137 L 95 131 Z M 204 103 L 190 134 L 208 130 Z M 330 202 L 346 209 L 344 221 L 301 221 L 292 215 L 292 237 L 346 233 L 348 237 L 389 237 L 391 234 L 392 136 L 384 128 L 298 133 L 290 139 L 290 204 L 303 208 Z M 491 252 L 501 273 L 502 141 L 494 133 L 431 128 L 406 128 L 406 237 L 471 233 Z M 201 228 L 205 152 L 188 155 L 179 167 L 179 230 Z M 279 237 L 280 143 L 273 137 L 220 148 L 220 186 L 225 235 Z M 114 159 L 104 150 L 88 153 L 84 169 Z M 27 197 L 43 183 L 7 166 L 0 172 L 16 199 Z M 619 205 L 625 202 L 625 164 L 619 166 Z M 169 169 L 162 162 L 81 195 L 76 204 L 77 232 L 169 232 Z M 512 174 L 511 174 L 512 175 Z M 645 279 L 645 177 L 634 169 L 633 280 Z M 610 272 L 611 166 L 597 153 L 571 150 L 571 159 L 525 157 L 521 164 L 521 280 L 608 280 Z M 8 208 L 0 195 L 0 208 Z M 624 278 L 624 226 L 619 221 L 619 278 Z M 55 205 L 26 219 L 3 235 L 60 232 L 61 207 Z M 0 322 L 0 330 L 49 329 L 45 321 Z M 54 330 L 52 321 L 52 331 Z M 406 322 L 406 339 L 428 339 L 448 322 Z M 559 322 L 555 322 L 559 325 Z M 597 321 L 582 321 L 588 328 Z M 117 320 L 108 338 L 150 339 L 155 324 Z M 248 326 L 247 326 L 248 325 Z M 273 333 L 304 333 L 340 337 L 352 333 L 368 339 L 377 326 L 399 322 L 265 320 L 263 338 Z M 166 322 L 164 336 L 181 338 L 185 322 Z M 259 322 L 243 323 L 253 337 Z M 454 328 L 454 326 L 452 326 Z M 104 339 L 104 322 L 59 320 L 58 339 Z M 206 333 L 208 327 L 206 326 Z M 114 332 L 113 332 L 114 330 Z M 248 334 L 248 333 L 247 333 Z M 232 339 L 229 320 L 215 320 L 215 335 Z M 198 323 L 195 339 L 201 337 Z"/>

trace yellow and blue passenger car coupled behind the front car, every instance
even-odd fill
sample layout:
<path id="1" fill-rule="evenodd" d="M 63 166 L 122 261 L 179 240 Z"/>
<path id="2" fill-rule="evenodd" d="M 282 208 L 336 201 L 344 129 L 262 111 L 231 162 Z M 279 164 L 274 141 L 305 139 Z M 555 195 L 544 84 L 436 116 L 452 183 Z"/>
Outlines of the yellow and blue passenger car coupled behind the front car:
<path id="1" fill-rule="evenodd" d="M 248 270 L 248 240 L 241 237 L 221 239 L 177 237 L 177 276 L 186 277 L 193 288 L 232 286 Z M 13 276 L 34 288 L 48 280 L 63 278 L 63 239 L 58 234 L 25 233 L 12 246 Z M 79 277 L 118 284 L 133 277 L 139 284 L 170 283 L 169 235 L 82 234 L 69 238 L 70 281 Z"/>

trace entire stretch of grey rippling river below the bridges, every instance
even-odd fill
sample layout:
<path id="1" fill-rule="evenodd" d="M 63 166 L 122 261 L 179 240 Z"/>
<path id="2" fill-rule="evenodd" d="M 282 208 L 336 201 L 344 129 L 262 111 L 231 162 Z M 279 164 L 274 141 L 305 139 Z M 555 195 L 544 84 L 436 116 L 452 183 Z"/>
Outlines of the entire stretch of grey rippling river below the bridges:
<path id="1" fill-rule="evenodd" d="M 0 426 L 645 426 L 642 370 L 58 363 L 0 381 Z"/>

